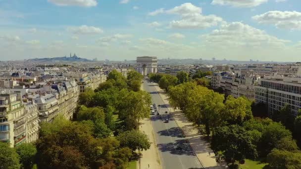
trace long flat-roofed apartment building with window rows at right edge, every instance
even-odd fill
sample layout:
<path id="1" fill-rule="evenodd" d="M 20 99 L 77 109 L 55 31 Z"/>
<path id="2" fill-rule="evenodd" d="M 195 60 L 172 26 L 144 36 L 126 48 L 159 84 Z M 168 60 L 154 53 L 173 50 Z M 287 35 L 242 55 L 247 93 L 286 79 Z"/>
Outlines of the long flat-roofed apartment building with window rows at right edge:
<path id="1" fill-rule="evenodd" d="M 267 105 L 269 116 L 285 104 L 289 104 L 297 116 L 301 109 L 301 78 L 264 76 L 255 86 L 255 101 Z"/>

